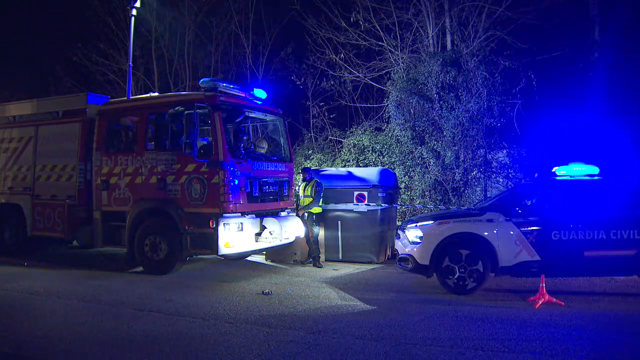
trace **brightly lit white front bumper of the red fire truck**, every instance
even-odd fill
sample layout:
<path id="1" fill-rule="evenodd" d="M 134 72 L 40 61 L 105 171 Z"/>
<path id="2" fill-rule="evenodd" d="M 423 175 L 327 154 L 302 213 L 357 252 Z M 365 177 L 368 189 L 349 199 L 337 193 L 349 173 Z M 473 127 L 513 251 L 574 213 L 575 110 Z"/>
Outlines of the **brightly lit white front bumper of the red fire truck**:
<path id="1" fill-rule="evenodd" d="M 305 226 L 291 211 L 277 217 L 225 214 L 218 220 L 218 255 L 257 254 L 305 236 Z"/>

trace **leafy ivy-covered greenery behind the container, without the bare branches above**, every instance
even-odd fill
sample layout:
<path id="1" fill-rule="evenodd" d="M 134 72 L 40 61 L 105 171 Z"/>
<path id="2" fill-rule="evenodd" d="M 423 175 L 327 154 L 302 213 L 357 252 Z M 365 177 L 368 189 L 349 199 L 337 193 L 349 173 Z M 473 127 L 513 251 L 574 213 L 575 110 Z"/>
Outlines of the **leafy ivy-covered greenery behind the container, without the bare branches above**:
<path id="1" fill-rule="evenodd" d="M 504 140 L 516 133 L 504 69 L 498 59 L 479 63 L 460 53 L 415 58 L 388 82 L 383 124 L 302 142 L 296 163 L 388 167 L 403 204 L 473 206 L 520 180 L 519 152 Z"/>

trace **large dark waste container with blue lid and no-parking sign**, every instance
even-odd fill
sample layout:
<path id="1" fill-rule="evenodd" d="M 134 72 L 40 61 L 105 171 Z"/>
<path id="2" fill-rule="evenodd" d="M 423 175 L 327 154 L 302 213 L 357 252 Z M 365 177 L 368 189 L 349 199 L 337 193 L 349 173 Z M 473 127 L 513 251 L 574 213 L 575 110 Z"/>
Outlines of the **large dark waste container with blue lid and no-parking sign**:
<path id="1" fill-rule="evenodd" d="M 382 263 L 396 236 L 399 187 L 388 168 L 314 168 L 324 186 L 324 257 L 326 261 Z M 363 206 L 371 204 L 371 206 Z M 375 206 L 389 204 L 391 206 Z"/>

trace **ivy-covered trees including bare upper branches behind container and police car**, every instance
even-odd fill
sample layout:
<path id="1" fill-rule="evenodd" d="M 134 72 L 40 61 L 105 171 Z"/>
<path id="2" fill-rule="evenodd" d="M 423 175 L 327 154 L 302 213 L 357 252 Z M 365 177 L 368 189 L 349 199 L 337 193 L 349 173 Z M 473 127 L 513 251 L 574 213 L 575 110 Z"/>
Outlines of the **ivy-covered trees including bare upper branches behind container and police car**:
<path id="1" fill-rule="evenodd" d="M 298 166 L 391 168 L 411 205 L 474 206 L 520 181 L 516 114 L 534 79 L 506 60 L 509 1 L 317 4 L 312 49 L 352 90 L 352 104 L 336 101 L 379 115 L 340 136 L 315 129 L 296 147 Z"/>

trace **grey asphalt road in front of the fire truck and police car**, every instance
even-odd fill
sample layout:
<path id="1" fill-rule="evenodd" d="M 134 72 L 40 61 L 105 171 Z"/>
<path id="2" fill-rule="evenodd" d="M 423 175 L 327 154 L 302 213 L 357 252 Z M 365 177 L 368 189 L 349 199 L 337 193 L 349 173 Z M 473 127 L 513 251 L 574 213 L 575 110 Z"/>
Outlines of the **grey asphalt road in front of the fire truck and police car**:
<path id="1" fill-rule="evenodd" d="M 637 278 L 547 279 L 566 306 L 535 310 L 538 279 L 456 297 L 392 264 L 325 265 L 202 257 L 155 277 L 115 249 L 0 259 L 0 359 L 640 356 Z"/>

